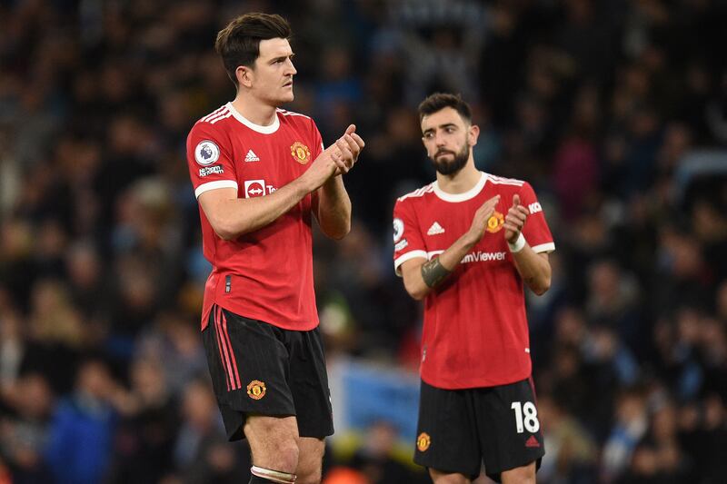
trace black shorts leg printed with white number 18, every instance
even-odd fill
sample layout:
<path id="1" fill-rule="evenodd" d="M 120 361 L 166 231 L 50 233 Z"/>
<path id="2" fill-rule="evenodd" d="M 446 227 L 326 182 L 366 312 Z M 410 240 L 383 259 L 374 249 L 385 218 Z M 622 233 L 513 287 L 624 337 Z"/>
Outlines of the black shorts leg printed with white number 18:
<path id="1" fill-rule="evenodd" d="M 487 475 L 499 480 L 506 470 L 539 464 L 544 454 L 543 433 L 532 380 L 479 389 L 476 395 Z"/>

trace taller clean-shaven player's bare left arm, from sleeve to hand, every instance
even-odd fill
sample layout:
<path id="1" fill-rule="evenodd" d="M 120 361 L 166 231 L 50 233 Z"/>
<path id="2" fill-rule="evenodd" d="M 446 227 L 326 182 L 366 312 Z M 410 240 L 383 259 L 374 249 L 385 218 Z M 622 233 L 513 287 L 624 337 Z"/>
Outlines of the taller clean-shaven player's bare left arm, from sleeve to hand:
<path id="1" fill-rule="evenodd" d="M 288 212 L 305 195 L 318 190 L 334 176 L 339 163 L 348 162 L 345 153 L 334 153 L 335 150 L 336 144 L 332 144 L 304 174 L 264 197 L 237 198 L 234 188 L 204 192 L 198 199 L 204 215 L 214 232 L 226 241 L 261 229 Z"/>

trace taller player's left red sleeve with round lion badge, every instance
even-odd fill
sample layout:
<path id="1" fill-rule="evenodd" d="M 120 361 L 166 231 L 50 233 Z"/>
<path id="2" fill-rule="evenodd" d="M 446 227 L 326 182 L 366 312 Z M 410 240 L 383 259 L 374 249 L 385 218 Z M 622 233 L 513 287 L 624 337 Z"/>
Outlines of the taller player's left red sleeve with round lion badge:
<path id="1" fill-rule="evenodd" d="M 218 188 L 237 189 L 231 146 L 210 123 L 196 123 L 187 136 L 187 166 L 194 196 Z"/>

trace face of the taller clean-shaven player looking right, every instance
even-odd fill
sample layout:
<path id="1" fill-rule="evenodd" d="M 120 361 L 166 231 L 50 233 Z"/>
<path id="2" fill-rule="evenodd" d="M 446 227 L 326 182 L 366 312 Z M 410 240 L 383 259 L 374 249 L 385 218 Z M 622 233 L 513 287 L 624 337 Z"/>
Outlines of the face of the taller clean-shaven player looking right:
<path id="1" fill-rule="evenodd" d="M 264 102 L 280 105 L 293 101 L 293 49 L 287 39 L 260 41 L 260 55 L 251 73 L 251 90 Z"/>

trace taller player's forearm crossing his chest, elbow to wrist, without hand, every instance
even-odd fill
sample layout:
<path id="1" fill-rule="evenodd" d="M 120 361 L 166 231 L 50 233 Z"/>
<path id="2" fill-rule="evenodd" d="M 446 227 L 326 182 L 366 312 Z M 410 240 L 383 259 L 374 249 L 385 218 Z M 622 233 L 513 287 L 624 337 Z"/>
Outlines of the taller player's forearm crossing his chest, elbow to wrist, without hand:
<path id="1" fill-rule="evenodd" d="M 234 240 L 245 233 L 262 229 L 292 209 L 309 192 L 304 180 L 297 179 L 264 197 L 234 198 L 221 202 L 210 223 L 224 240 Z"/>

